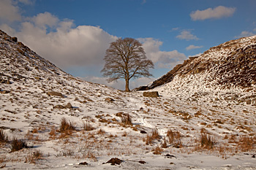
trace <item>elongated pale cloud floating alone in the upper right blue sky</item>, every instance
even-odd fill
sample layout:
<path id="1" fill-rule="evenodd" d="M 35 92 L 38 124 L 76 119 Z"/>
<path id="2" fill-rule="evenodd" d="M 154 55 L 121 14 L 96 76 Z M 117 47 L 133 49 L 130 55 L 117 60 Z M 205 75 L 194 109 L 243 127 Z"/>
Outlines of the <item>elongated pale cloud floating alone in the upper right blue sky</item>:
<path id="1" fill-rule="evenodd" d="M 233 7 L 215 7 L 214 9 L 208 8 L 205 10 L 197 10 L 190 13 L 190 17 L 192 20 L 206 20 L 206 19 L 219 19 L 219 18 L 227 18 L 233 15 L 236 11 L 236 8 Z"/>

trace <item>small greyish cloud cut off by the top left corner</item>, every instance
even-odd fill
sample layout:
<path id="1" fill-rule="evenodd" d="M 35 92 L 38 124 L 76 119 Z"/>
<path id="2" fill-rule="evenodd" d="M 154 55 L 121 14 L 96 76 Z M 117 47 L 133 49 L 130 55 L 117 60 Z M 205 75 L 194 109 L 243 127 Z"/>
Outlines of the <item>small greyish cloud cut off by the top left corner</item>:
<path id="1" fill-rule="evenodd" d="M 13 22 L 21 20 L 20 9 L 12 0 L 0 1 L 0 21 Z"/>

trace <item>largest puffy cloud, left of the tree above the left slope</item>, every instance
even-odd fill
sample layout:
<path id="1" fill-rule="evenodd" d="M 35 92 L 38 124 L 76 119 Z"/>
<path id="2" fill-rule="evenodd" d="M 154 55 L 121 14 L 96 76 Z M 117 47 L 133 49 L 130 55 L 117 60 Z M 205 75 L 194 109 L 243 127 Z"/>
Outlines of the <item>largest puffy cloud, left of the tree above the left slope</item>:
<path id="1" fill-rule="evenodd" d="M 56 16 L 45 12 L 21 23 L 21 29 L 15 33 L 15 36 L 57 66 L 102 64 L 105 50 L 117 37 L 99 27 L 72 28 L 73 25 L 72 20 L 59 20 Z M 13 31 L 6 25 L 1 27 Z"/>

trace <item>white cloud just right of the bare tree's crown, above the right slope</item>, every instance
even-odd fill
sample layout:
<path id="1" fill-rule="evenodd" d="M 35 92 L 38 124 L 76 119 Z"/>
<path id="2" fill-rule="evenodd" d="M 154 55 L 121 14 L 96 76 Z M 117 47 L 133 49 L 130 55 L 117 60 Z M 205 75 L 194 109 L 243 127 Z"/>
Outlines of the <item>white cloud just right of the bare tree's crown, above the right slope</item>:
<path id="1" fill-rule="evenodd" d="M 143 44 L 146 56 L 151 59 L 158 68 L 170 69 L 187 59 L 186 55 L 179 53 L 177 50 L 161 51 L 159 47 L 162 45 L 157 39 L 144 38 L 138 39 Z"/>

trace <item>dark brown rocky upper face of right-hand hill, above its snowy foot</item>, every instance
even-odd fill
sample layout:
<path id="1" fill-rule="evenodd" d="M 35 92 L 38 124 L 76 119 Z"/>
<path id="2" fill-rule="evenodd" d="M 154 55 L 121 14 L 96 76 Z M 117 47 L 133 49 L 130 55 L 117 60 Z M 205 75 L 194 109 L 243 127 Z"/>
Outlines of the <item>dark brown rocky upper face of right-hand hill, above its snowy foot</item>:
<path id="1" fill-rule="evenodd" d="M 255 88 L 256 36 L 231 40 L 211 47 L 199 57 L 189 58 L 183 64 L 154 81 L 148 90 L 172 82 L 174 77 L 197 81 L 205 88 Z M 187 82 L 189 84 L 189 82 Z"/>

